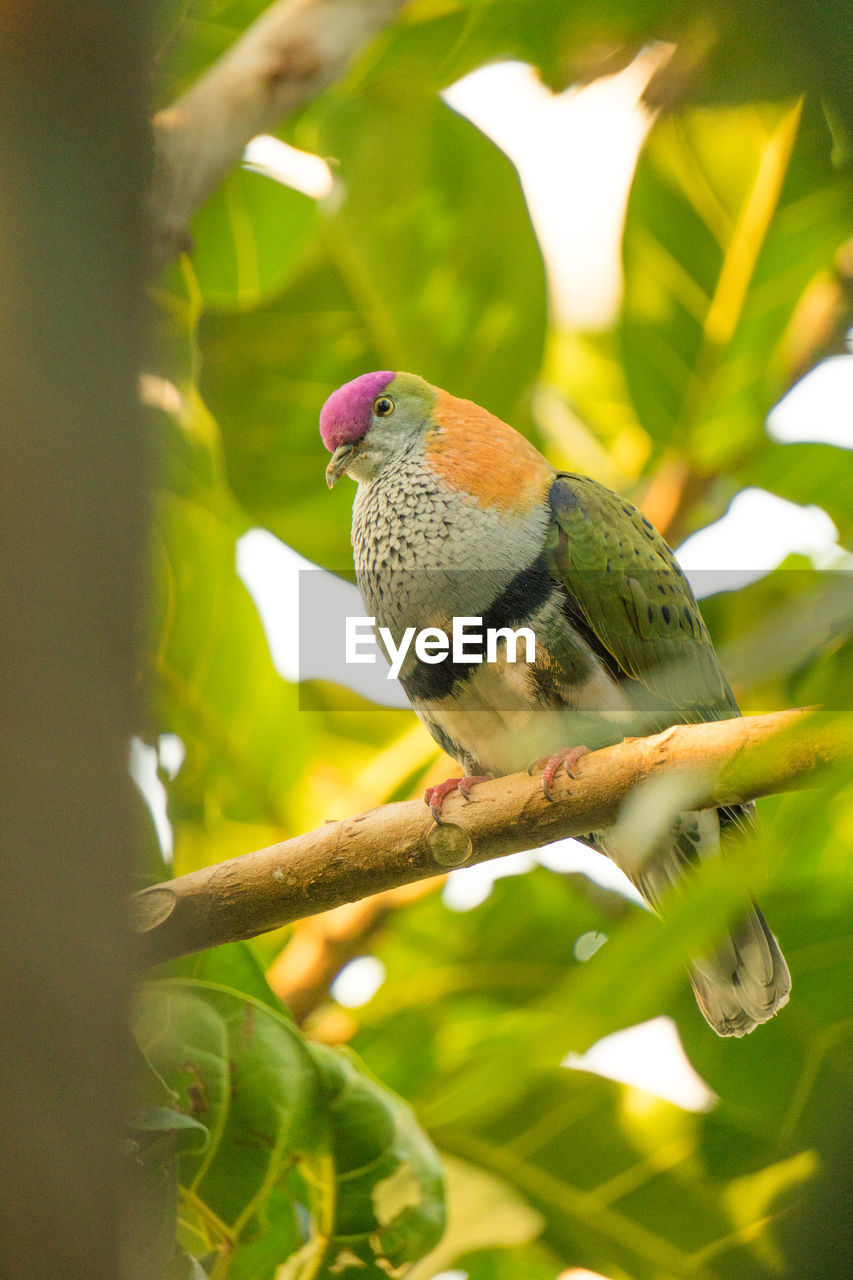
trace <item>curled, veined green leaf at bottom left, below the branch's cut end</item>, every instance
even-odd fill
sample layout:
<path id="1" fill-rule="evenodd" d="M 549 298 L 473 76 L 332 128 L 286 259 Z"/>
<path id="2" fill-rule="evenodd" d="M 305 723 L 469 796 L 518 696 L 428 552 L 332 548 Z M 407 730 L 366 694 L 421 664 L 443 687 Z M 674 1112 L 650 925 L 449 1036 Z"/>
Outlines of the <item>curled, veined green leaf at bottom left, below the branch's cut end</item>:
<path id="1" fill-rule="evenodd" d="M 179 1157 L 182 1239 L 219 1253 L 216 1275 L 272 1280 L 287 1261 L 293 1277 L 348 1276 L 351 1265 L 380 1277 L 435 1244 L 438 1157 L 353 1055 L 309 1044 L 269 1005 L 200 979 L 146 984 L 134 1027 L 175 1097 L 134 1132 L 145 1125 L 163 1158 Z"/>

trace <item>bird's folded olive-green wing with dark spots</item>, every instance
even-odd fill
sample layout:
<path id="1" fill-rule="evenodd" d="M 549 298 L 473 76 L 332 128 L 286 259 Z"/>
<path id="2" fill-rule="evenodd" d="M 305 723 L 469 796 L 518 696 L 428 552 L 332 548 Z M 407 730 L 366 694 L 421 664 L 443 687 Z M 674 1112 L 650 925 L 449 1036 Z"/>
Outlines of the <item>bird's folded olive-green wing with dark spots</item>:
<path id="1" fill-rule="evenodd" d="M 561 472 L 549 502 L 547 554 L 569 617 L 638 682 L 649 723 L 736 716 L 693 591 L 649 521 L 588 476 Z"/>

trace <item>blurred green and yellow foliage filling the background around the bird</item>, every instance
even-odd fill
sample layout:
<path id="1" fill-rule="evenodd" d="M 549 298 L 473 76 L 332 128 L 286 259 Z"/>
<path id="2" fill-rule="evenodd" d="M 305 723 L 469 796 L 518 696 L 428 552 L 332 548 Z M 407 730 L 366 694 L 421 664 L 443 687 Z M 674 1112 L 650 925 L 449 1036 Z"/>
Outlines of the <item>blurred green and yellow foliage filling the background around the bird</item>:
<path id="1" fill-rule="evenodd" d="M 154 105 L 261 8 L 161 0 Z M 237 575 L 257 525 L 348 571 L 351 490 L 325 489 L 316 419 L 361 371 L 410 369 L 479 401 L 556 463 L 647 500 L 671 538 L 761 486 L 820 504 L 849 544 L 853 451 L 765 431 L 850 323 L 849 18 L 829 0 L 412 0 L 282 125 L 329 159 L 330 196 L 242 170 L 199 212 L 192 256 L 154 289 L 143 380 L 160 475 L 142 736 L 177 735 L 186 753 L 160 768 L 174 873 L 415 795 L 446 771 L 407 712 L 321 684 L 301 703 Z M 512 165 L 438 93 L 503 58 L 558 90 L 654 41 L 676 47 L 647 91 L 666 109 L 634 175 L 622 303 L 607 332 L 560 332 Z M 744 710 L 850 705 L 849 571 L 793 558 L 703 612 Z M 666 925 L 542 868 L 465 914 L 421 896 L 361 942 L 384 965 L 373 1000 L 329 998 L 307 1036 L 264 977 L 287 965 L 298 928 L 159 973 L 140 997 L 128 1138 L 151 1274 L 847 1274 L 850 780 L 772 797 L 761 815 L 756 842 L 703 868 Z M 684 964 L 753 893 L 793 997 L 724 1042 Z M 579 959 L 590 936 L 606 945 Z M 713 1089 L 710 1110 L 561 1066 L 657 1014 Z M 359 1057 L 320 1039 L 350 1039 Z"/>

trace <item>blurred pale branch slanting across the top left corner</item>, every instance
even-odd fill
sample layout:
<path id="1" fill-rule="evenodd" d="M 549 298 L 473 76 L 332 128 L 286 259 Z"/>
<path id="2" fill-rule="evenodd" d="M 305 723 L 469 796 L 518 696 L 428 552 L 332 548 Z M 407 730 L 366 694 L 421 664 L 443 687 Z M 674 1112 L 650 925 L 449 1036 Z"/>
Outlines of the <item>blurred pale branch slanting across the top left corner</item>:
<path id="1" fill-rule="evenodd" d="M 155 266 L 188 247 L 187 225 L 240 161 L 338 79 L 405 0 L 275 0 L 172 106 L 154 118 Z"/>

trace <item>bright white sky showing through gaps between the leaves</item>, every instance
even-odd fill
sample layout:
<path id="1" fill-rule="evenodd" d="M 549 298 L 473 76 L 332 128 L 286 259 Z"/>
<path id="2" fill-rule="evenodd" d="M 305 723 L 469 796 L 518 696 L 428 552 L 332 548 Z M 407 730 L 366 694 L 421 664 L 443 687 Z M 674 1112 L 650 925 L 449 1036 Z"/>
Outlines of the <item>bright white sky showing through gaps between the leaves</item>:
<path id="1" fill-rule="evenodd" d="M 475 72 L 446 93 L 447 101 L 515 163 L 543 246 L 555 312 L 573 325 L 605 325 L 619 305 L 619 239 L 637 152 L 648 128 L 638 100 L 652 56 L 638 59 L 617 76 L 557 96 L 539 83 L 530 68 L 515 63 Z M 332 174 L 321 159 L 295 152 L 275 138 L 255 140 L 247 160 L 315 198 L 332 189 Z M 853 448 L 853 355 L 833 357 L 808 374 L 776 406 L 767 428 L 784 443 L 825 440 Z M 797 507 L 749 489 L 738 494 L 721 520 L 688 539 L 679 558 L 698 593 L 707 595 L 731 584 L 733 572 L 742 584 L 744 564 L 761 576 L 790 552 L 807 554 L 821 567 L 836 563 L 839 549 L 831 520 L 818 507 Z M 302 655 L 300 671 L 293 607 L 298 573 L 307 568 L 314 566 L 265 530 L 252 530 L 240 541 L 240 575 L 260 611 L 273 660 L 291 681 L 330 673 L 323 667 L 323 655 L 318 658 L 314 652 Z M 710 577 L 711 572 L 716 576 Z M 336 609 L 361 614 L 355 588 L 332 575 L 327 577 Z M 407 705 L 402 690 L 384 678 L 379 663 L 350 671 L 353 689 L 378 701 Z M 160 758 L 170 772 L 181 767 L 181 750 L 177 739 L 164 740 Z M 164 850 L 169 851 L 172 833 L 156 778 L 156 754 L 134 744 L 132 771 L 155 814 Z M 560 841 L 535 856 L 555 870 L 583 870 L 637 896 L 612 863 L 575 841 Z M 470 910 L 489 895 L 498 877 L 519 874 L 533 863 L 532 854 L 516 854 L 453 872 L 444 901 L 455 910 Z M 583 957 L 602 941 L 598 936 L 579 940 L 579 947 L 585 948 Z M 364 956 L 339 974 L 333 993 L 342 1004 L 356 1007 L 383 980 L 382 963 Z M 598 1071 L 692 1110 L 713 1103 L 713 1094 L 684 1056 L 675 1025 L 665 1018 L 607 1037 L 581 1059 L 570 1057 L 564 1065 Z M 455 1275 L 461 1277 L 462 1272 Z M 588 1275 L 567 1272 L 566 1280 L 584 1280 Z"/>

